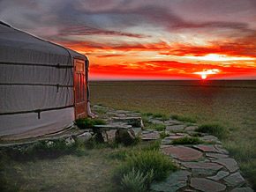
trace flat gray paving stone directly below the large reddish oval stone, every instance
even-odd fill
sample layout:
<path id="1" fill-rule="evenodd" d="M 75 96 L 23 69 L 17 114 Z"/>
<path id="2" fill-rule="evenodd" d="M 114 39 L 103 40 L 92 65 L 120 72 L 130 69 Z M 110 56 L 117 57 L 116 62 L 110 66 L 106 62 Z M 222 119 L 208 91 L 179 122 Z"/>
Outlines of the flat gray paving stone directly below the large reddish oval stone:
<path id="1" fill-rule="evenodd" d="M 202 174 L 202 175 L 211 175 L 215 174 L 217 171 L 222 169 L 223 166 L 211 163 L 211 162 L 183 162 L 182 165 L 184 165 L 186 168 L 191 168 L 192 173 L 195 174 Z"/>

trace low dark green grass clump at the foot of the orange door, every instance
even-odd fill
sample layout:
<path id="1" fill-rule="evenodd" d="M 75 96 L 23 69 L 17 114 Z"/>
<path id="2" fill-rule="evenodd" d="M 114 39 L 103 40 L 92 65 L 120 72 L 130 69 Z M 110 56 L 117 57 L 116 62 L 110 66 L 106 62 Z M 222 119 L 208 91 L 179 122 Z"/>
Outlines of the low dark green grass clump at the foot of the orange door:
<path id="1" fill-rule="evenodd" d="M 95 125 L 105 125 L 107 122 L 102 119 L 79 118 L 75 121 L 79 129 L 93 129 Z"/>

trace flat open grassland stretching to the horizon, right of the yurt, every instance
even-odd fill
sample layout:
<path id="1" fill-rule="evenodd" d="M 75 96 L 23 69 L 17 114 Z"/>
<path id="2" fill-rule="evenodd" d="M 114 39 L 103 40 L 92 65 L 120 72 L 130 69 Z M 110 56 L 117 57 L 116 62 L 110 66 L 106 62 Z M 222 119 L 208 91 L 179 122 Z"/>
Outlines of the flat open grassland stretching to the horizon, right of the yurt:
<path id="1" fill-rule="evenodd" d="M 256 81 L 93 81 L 90 90 L 92 104 L 222 124 L 223 145 L 255 188 Z"/>

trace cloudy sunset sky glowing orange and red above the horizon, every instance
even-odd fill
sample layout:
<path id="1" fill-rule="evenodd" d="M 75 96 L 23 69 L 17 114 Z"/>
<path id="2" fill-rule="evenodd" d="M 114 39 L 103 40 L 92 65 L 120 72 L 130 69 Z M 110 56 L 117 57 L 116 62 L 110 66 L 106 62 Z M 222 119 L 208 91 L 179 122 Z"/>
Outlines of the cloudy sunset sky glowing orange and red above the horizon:
<path id="1" fill-rule="evenodd" d="M 256 0 L 0 0 L 0 19 L 87 55 L 94 80 L 256 79 Z"/>

